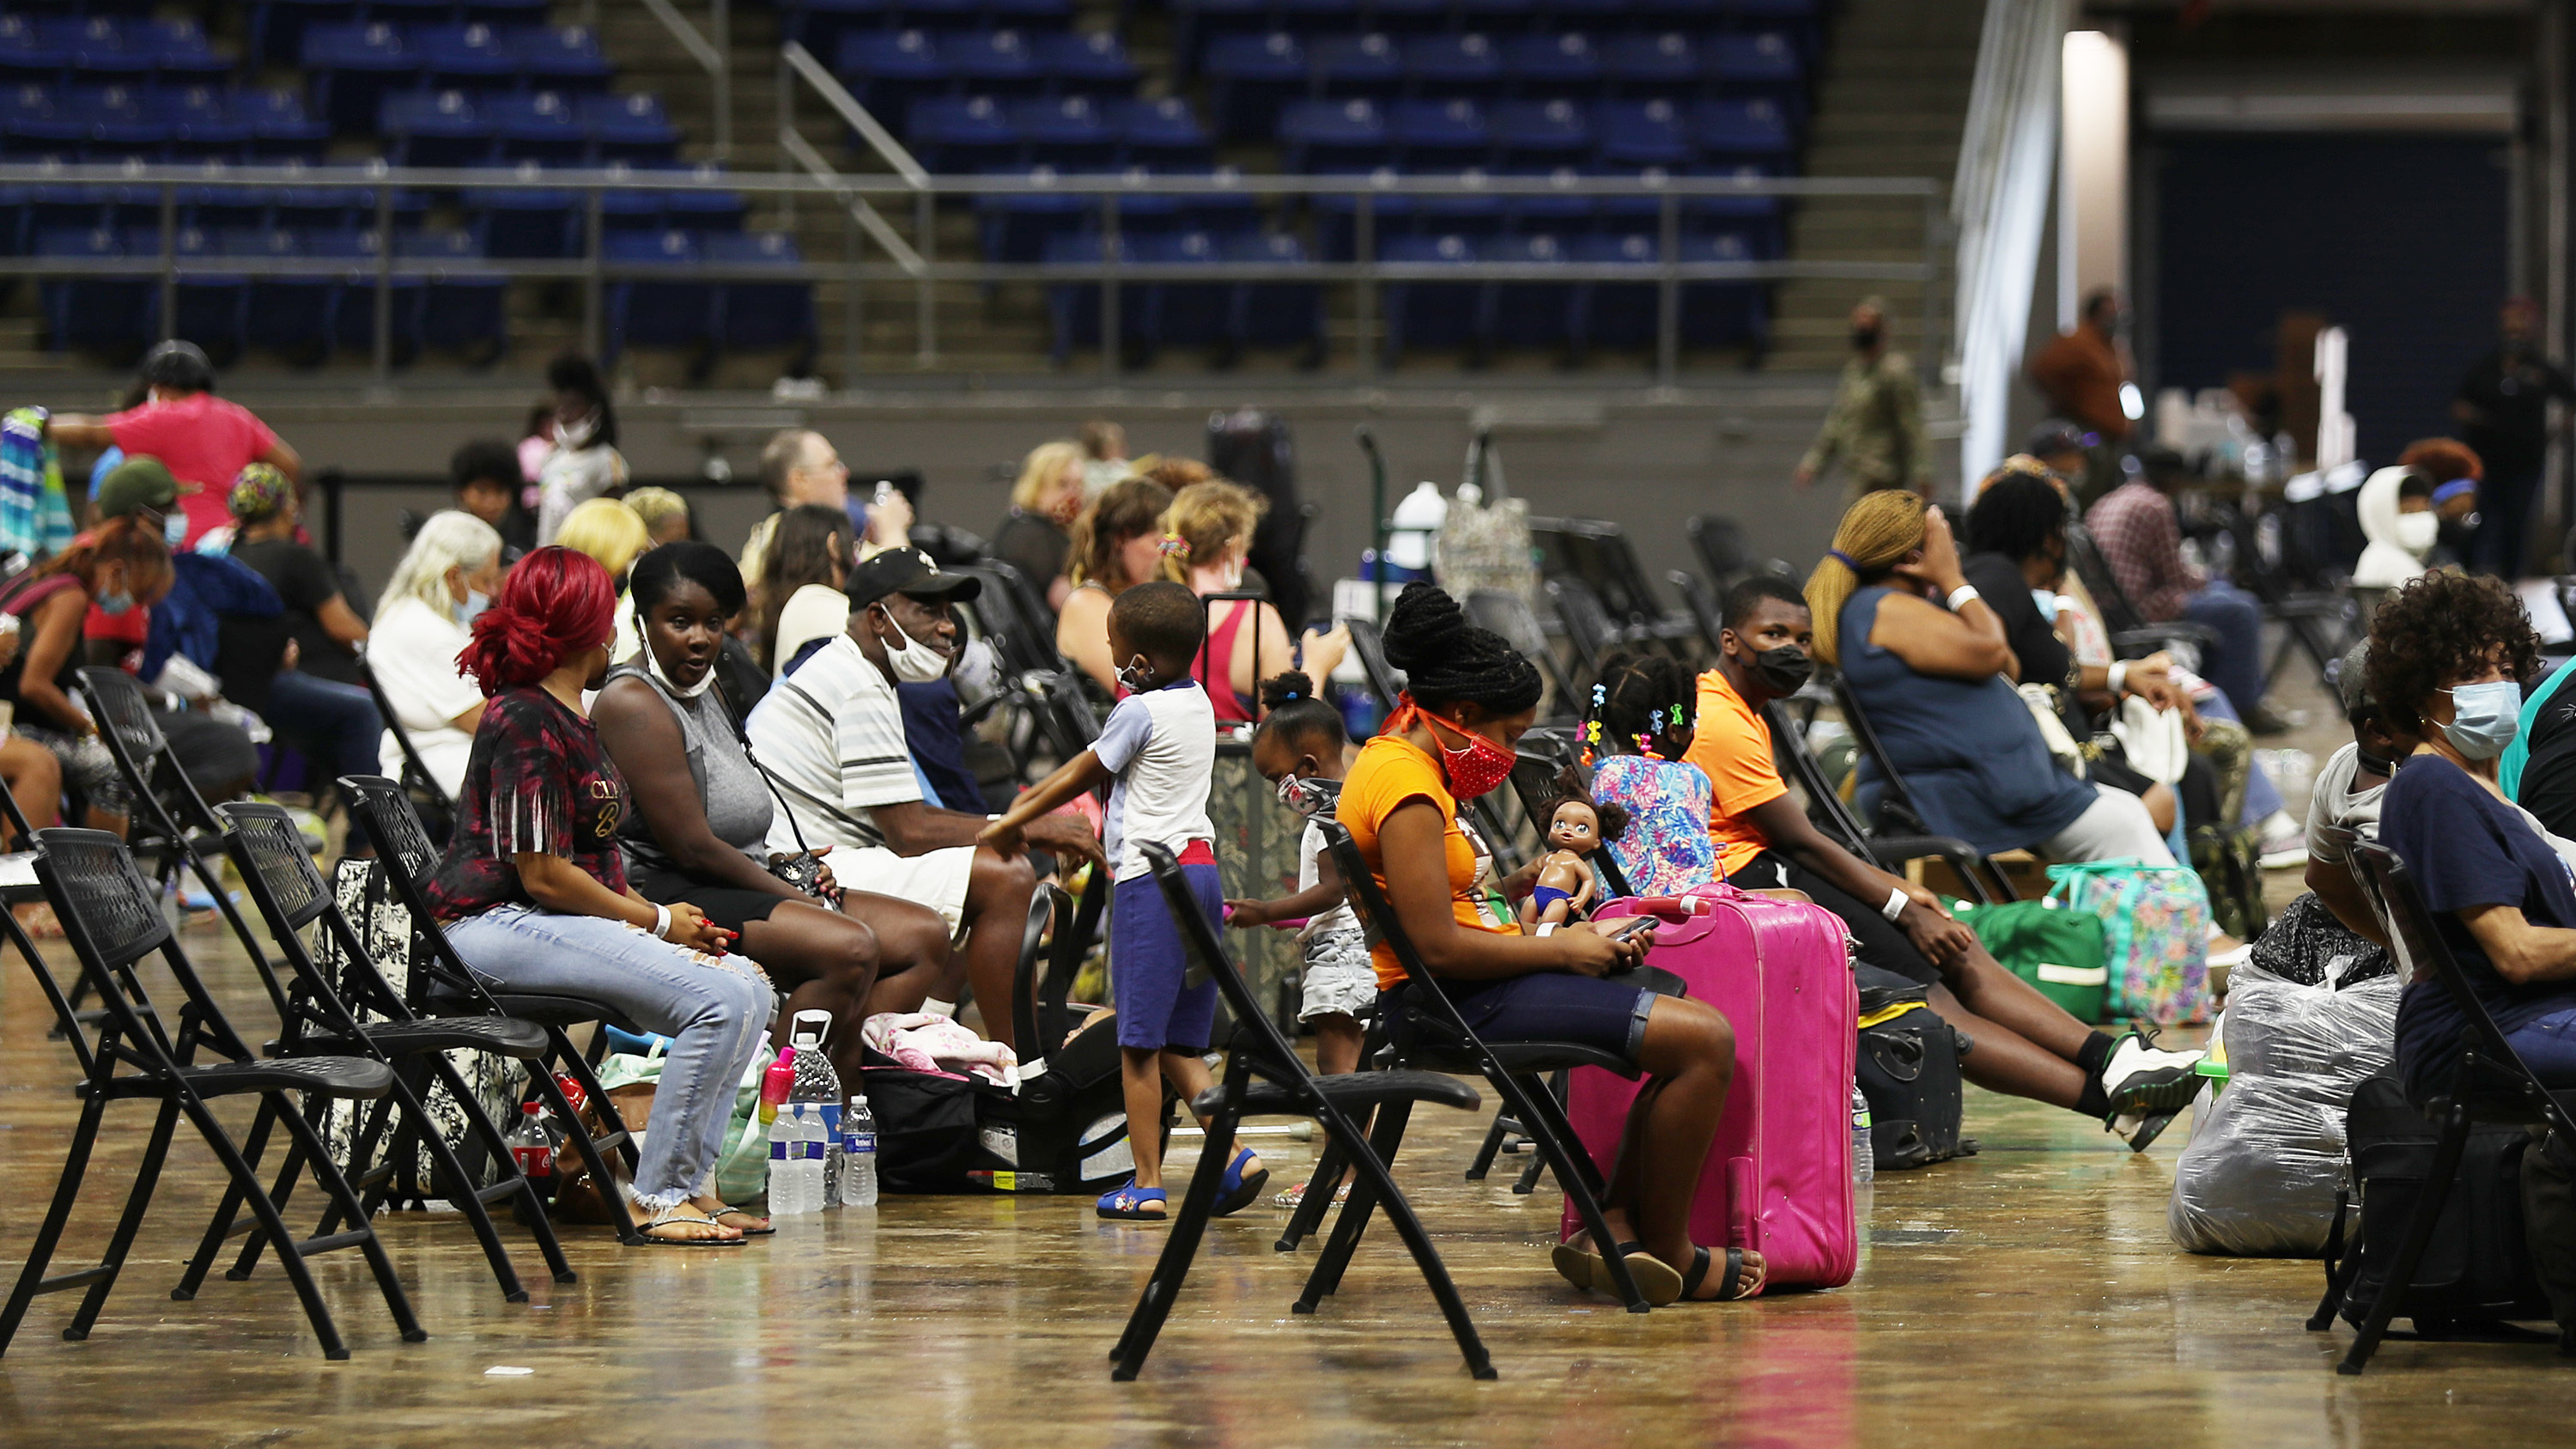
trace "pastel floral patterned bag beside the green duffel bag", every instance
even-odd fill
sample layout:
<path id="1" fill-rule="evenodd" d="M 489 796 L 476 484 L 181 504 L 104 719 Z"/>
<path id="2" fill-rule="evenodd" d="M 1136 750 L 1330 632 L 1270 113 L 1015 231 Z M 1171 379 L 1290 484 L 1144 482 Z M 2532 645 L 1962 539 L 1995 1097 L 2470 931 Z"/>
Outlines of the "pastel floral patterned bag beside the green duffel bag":
<path id="1" fill-rule="evenodd" d="M 2048 866 L 2048 895 L 2102 918 L 2107 1021 L 2210 1018 L 2210 892 L 2190 866 L 2138 859 Z"/>

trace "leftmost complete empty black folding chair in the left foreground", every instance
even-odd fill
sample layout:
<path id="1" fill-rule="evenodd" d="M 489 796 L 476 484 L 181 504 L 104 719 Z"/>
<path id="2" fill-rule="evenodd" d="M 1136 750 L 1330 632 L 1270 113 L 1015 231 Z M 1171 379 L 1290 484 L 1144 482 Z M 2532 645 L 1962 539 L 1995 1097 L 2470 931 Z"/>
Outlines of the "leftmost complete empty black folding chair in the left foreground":
<path id="1" fill-rule="evenodd" d="M 394 1263 L 386 1258 L 384 1243 L 376 1240 L 376 1227 L 358 1209 L 358 1191 L 350 1189 L 325 1150 L 322 1137 L 291 1096 L 381 1098 L 394 1085 L 392 1067 L 374 1057 L 317 1055 L 276 1060 L 252 1052 L 234 1034 L 206 982 L 198 980 L 188 954 L 180 951 L 178 936 L 173 936 L 170 923 L 160 913 L 160 890 L 144 882 L 134 866 L 134 856 L 126 853 L 124 841 L 116 835 L 103 830 L 39 830 L 36 879 L 54 905 L 54 915 L 62 918 L 64 938 L 70 938 L 72 954 L 80 957 L 82 975 L 93 977 L 90 985 L 98 990 L 106 1016 L 88 1052 L 88 1070 L 80 1083 L 80 1124 L 72 1129 L 72 1147 L 54 1186 L 54 1204 L 36 1230 L 36 1243 L 28 1248 L 26 1269 L 18 1274 L 18 1287 L 10 1292 L 8 1307 L 0 1310 L 0 1354 L 18 1336 L 18 1323 L 36 1294 L 88 1289 L 62 1336 L 75 1343 L 90 1336 L 98 1312 L 108 1302 L 108 1292 L 116 1287 L 116 1276 L 126 1266 L 126 1253 L 134 1248 L 134 1232 L 152 1207 L 152 1191 L 160 1183 L 162 1163 L 170 1155 L 170 1137 L 180 1116 L 196 1127 L 198 1137 L 206 1140 L 206 1147 L 224 1165 L 232 1194 L 250 1204 L 252 1232 L 278 1245 L 278 1261 L 286 1263 L 286 1276 L 296 1297 L 304 1299 L 304 1318 L 312 1323 L 314 1338 L 322 1341 L 327 1359 L 348 1359 L 348 1346 L 340 1341 L 337 1325 L 332 1325 L 330 1307 L 322 1302 L 307 1261 L 340 1248 L 366 1253 L 376 1289 L 384 1294 L 384 1307 L 392 1312 L 402 1338 L 407 1343 L 428 1338 L 420 1330 L 420 1320 L 412 1318 L 410 1294 L 404 1294 L 402 1279 L 394 1276 Z M 137 972 L 155 954 L 185 998 L 175 1034 L 165 1029 Z M 201 1065 L 201 1052 L 211 1052 L 219 1060 Z M 216 1098 L 242 1093 L 260 1093 L 263 1114 L 286 1124 L 314 1178 L 350 1214 L 345 1232 L 299 1240 L 286 1227 L 278 1204 L 260 1186 L 258 1165 L 242 1155 L 209 1106 Z M 134 1186 L 126 1191 L 126 1209 L 116 1220 L 106 1256 L 95 1266 L 49 1279 L 44 1269 L 54 1261 L 62 1230 L 72 1220 L 72 1204 L 80 1199 L 80 1181 L 88 1176 L 90 1150 L 98 1145 L 98 1129 L 106 1122 L 111 1101 L 157 1101 L 160 1114 L 152 1122 L 152 1137 L 144 1142 L 142 1163 L 134 1168 Z"/>

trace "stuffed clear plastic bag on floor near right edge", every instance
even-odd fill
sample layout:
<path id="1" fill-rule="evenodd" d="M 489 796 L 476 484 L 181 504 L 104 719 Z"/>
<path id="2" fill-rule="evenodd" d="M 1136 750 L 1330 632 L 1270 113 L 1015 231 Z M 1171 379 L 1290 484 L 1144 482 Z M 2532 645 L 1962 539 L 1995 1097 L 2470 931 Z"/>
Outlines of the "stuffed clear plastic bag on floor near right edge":
<path id="1" fill-rule="evenodd" d="M 2228 987 L 2228 1085 L 2202 1098 L 2166 1230 L 2192 1253 L 2313 1258 L 2344 1181 L 2344 1114 L 2396 1060 L 2398 982 L 2334 990 L 2251 964 Z"/>

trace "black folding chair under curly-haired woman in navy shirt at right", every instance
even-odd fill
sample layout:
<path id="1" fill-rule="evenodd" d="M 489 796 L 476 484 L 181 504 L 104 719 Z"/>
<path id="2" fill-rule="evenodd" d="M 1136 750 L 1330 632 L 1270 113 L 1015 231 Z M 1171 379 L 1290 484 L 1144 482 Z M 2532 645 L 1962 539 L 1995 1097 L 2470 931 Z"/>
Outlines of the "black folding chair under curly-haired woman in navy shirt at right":
<path id="1" fill-rule="evenodd" d="M 2396 951 L 2406 980 L 2416 985 L 2424 980 L 2442 982 L 2452 1006 L 2460 1008 L 2463 1021 L 2450 1078 L 2452 1091 L 2424 1104 L 2424 1116 L 2442 1129 L 2442 1137 L 2434 1142 L 2432 1171 L 2424 1178 L 2421 1196 L 2414 1201 L 2414 1212 L 2406 1217 L 2406 1235 L 2398 1240 L 2398 1256 L 2388 1266 L 2388 1279 L 2370 1302 L 2370 1312 L 2362 1315 L 2352 1351 L 2334 1366 L 2336 1374 L 2360 1374 L 2378 1351 L 2380 1338 L 2388 1336 L 2388 1320 L 2406 1312 L 2409 1287 L 2416 1279 L 2416 1266 L 2424 1261 L 2424 1248 L 2432 1245 L 2442 1201 L 2450 1199 L 2450 1189 L 2460 1176 L 2460 1155 L 2468 1147 L 2470 1129 L 2478 1124 L 2548 1127 L 2558 1132 L 2561 1142 L 2576 1142 L 2576 1114 L 2571 1114 L 2576 1091 L 2561 1088 L 2553 1093 L 2514 1052 L 2512 1042 L 2504 1039 L 2496 1018 L 2486 1013 L 2486 1003 L 2478 1000 L 2468 977 L 2460 975 L 2460 959 L 2452 957 L 2450 941 L 2434 926 L 2432 910 L 2406 874 L 2406 861 L 2388 846 L 2365 841 L 2352 830 L 2331 830 L 2329 838 L 2344 851 L 2344 861 L 2362 884 L 2362 895 L 2370 897 L 2370 908 L 2388 926 L 2388 949 Z M 2316 1305 L 2316 1315 L 2308 1318 L 2308 1330 L 2334 1325 L 2344 1294 L 2360 1279 L 2360 1253 L 2349 1253 L 2347 1261 L 2349 1266 L 2339 1276 L 2329 1263 L 2326 1297 Z"/>

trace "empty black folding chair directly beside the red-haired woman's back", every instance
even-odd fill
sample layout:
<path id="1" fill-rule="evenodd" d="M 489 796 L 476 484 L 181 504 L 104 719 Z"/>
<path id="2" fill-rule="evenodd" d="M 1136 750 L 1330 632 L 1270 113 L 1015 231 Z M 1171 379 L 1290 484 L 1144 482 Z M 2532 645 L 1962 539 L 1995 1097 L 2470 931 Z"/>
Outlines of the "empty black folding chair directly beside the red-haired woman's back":
<path id="1" fill-rule="evenodd" d="M 507 1016 L 546 1031 L 546 1049 L 528 1062 L 531 1085 L 546 1101 L 546 1109 L 554 1111 L 554 1119 L 564 1124 L 564 1132 L 572 1134 L 572 1147 L 582 1155 L 582 1165 L 590 1168 L 590 1181 L 600 1186 L 600 1201 L 618 1240 L 641 1243 L 644 1232 L 636 1227 L 634 1214 L 626 1212 L 626 1194 L 613 1186 L 618 1178 L 608 1173 L 605 1158 L 605 1152 L 618 1152 L 631 1173 L 636 1145 L 626 1132 L 626 1119 L 618 1116 L 616 1104 L 600 1088 L 598 1073 L 590 1070 L 590 1057 L 572 1044 L 567 1031 L 590 1021 L 603 1021 L 634 1036 L 644 1036 L 644 1029 L 618 1013 L 618 1008 L 580 995 L 487 990 L 466 969 L 456 946 L 448 944 L 448 933 L 438 928 L 438 915 L 430 910 L 430 877 L 438 874 L 438 848 L 430 846 L 430 835 L 420 828 L 412 797 L 384 776 L 340 776 L 340 789 L 376 843 L 384 879 L 412 915 L 407 1006 L 422 1016 Z M 605 1047 L 608 1034 L 595 1034 L 592 1052 L 605 1052 Z M 582 1098 L 600 1119 L 595 1137 L 582 1127 L 580 1114 L 572 1111 L 572 1101 L 554 1080 L 554 1073 L 569 1075 L 582 1088 Z"/>

